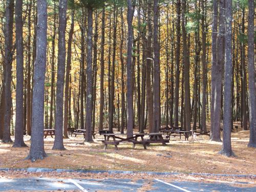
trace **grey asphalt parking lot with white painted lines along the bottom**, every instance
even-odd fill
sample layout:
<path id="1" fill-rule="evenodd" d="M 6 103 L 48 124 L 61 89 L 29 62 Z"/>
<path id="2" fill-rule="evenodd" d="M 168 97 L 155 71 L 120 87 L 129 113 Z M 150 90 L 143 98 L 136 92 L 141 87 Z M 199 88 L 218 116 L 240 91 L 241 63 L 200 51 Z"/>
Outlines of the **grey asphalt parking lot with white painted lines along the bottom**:
<path id="1" fill-rule="evenodd" d="M 256 191 L 256 187 L 239 187 L 238 183 L 204 183 L 131 179 L 0 179 L 0 191 Z M 241 184 L 241 183 L 240 183 Z M 246 186 L 246 183 L 243 183 Z M 147 187 L 142 188 L 143 185 Z M 142 190 L 143 189 L 143 190 Z"/>

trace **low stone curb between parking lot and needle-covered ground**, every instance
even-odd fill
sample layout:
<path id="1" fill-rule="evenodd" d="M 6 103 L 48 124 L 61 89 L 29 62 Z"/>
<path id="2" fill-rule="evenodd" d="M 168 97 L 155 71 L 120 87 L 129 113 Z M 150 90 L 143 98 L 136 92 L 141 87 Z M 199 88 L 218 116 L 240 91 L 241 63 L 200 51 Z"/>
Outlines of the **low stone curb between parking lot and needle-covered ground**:
<path id="1" fill-rule="evenodd" d="M 40 172 L 78 172 L 78 173 L 92 173 L 92 174 L 148 174 L 148 175 L 196 175 L 196 176 L 221 176 L 221 177 L 252 177 L 256 178 L 256 175 L 237 175 L 237 174 L 210 174 L 210 173 L 172 173 L 172 172 L 139 172 L 134 170 L 88 170 L 88 169 L 53 169 L 53 168 L 43 168 L 43 167 L 29 167 L 29 168 L 0 168 L 0 171 L 10 172 L 12 170 L 16 171 L 26 171 L 30 173 L 40 173 Z"/>

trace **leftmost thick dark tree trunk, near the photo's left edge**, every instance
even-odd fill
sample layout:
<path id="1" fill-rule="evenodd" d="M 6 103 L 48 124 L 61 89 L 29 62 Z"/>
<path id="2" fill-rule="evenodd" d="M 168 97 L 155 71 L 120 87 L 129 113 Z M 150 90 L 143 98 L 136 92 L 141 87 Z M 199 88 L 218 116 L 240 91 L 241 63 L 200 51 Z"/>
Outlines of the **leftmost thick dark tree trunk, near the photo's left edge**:
<path id="1" fill-rule="evenodd" d="M 13 9 L 14 1 L 6 1 L 6 10 L 5 10 L 5 74 L 4 74 L 4 134 L 2 141 L 5 143 L 12 142 L 10 135 L 10 126 L 11 126 L 11 106 L 12 106 L 12 97 L 11 97 L 11 81 L 12 81 L 12 34 L 13 34 Z"/>

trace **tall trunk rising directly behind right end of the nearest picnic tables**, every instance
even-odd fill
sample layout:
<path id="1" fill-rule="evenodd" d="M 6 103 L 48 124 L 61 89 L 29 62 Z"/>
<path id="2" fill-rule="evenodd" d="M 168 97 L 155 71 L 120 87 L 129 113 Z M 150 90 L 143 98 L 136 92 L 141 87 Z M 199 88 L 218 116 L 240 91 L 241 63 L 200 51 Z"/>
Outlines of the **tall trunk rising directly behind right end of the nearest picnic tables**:
<path id="1" fill-rule="evenodd" d="M 158 133 L 160 127 L 160 45 L 159 45 L 159 2 L 154 0 L 154 30 L 153 30 L 153 46 L 154 46 L 154 102 L 153 102 L 153 132 Z"/>

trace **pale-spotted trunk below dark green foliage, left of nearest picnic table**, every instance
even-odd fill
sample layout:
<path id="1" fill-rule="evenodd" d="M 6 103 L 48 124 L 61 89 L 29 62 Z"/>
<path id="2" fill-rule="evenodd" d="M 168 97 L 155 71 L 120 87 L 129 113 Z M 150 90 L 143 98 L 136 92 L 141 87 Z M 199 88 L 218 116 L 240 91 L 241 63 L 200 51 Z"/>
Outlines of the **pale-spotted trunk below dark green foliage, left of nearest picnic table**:
<path id="1" fill-rule="evenodd" d="M 93 9 L 88 8 L 88 33 L 87 33 L 87 86 L 86 86 L 86 139 L 92 139 L 92 108 L 93 108 L 93 79 L 92 79 L 92 48 L 93 48 Z"/>

